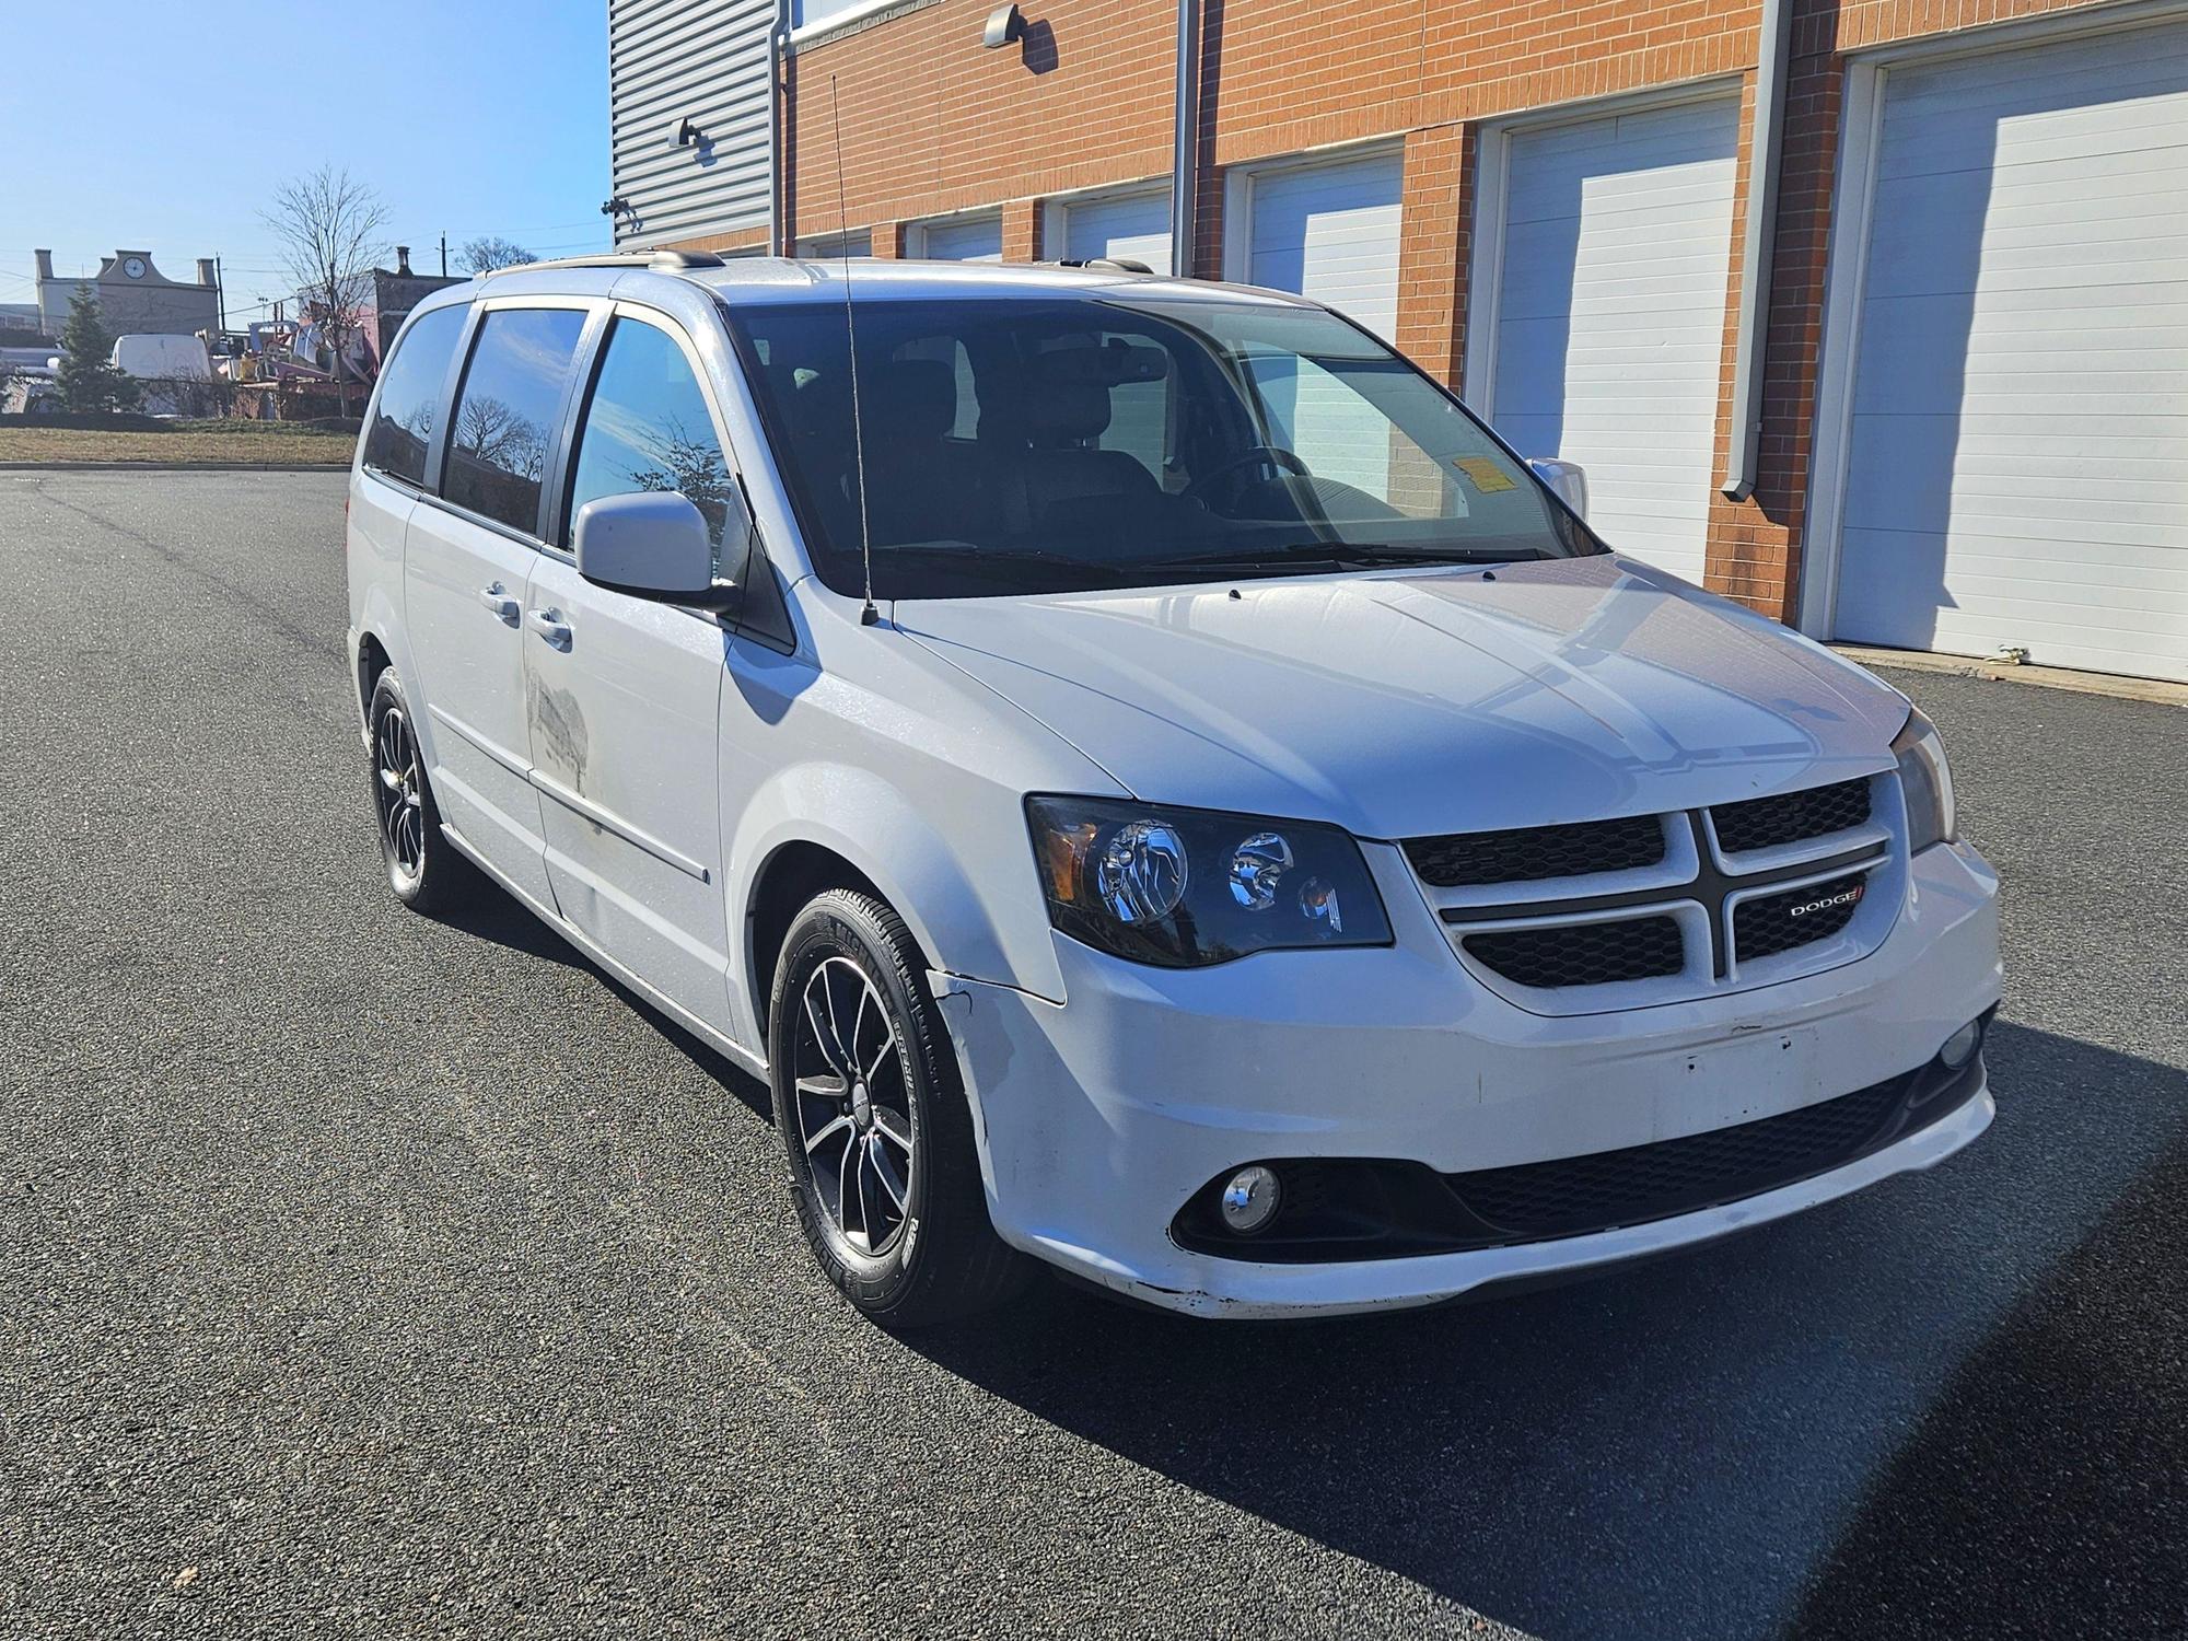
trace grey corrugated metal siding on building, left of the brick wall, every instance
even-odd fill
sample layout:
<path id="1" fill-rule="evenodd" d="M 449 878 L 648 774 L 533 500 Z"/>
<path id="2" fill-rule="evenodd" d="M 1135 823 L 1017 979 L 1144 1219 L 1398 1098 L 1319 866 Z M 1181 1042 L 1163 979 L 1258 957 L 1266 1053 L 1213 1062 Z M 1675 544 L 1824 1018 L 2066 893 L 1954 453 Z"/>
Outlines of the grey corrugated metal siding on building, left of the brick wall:
<path id="1" fill-rule="evenodd" d="M 775 0 L 608 0 L 608 164 L 635 212 L 617 243 L 768 221 Z M 711 138 L 678 149 L 685 118 Z"/>

